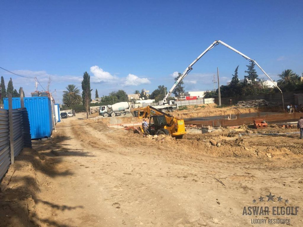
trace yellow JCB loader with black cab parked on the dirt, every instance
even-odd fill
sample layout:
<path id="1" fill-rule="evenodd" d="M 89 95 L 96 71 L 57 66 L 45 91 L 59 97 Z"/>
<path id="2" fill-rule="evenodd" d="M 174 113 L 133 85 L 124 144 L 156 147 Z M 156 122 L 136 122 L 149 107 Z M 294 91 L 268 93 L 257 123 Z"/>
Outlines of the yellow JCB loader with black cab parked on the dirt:
<path id="1" fill-rule="evenodd" d="M 171 114 L 162 112 L 155 107 L 147 106 L 132 109 L 131 113 L 134 117 L 149 118 L 147 127 L 138 127 L 135 132 L 143 135 L 168 135 L 181 139 L 186 133 L 183 119 L 178 119 Z"/>

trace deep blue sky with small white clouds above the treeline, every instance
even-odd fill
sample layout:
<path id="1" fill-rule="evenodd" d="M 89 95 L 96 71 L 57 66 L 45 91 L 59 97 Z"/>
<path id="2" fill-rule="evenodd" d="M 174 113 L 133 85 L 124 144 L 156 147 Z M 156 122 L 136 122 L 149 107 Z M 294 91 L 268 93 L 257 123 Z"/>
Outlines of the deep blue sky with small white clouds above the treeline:
<path id="1" fill-rule="evenodd" d="M 7 1 L 0 12 L 0 67 L 52 82 L 57 100 L 83 73 L 99 96 L 173 85 L 213 41 L 222 40 L 255 59 L 275 80 L 284 69 L 303 72 L 303 1 Z M 213 89 L 249 62 L 218 45 L 184 79 L 185 90 Z M 257 70 L 260 77 L 264 77 Z M 9 74 L 6 84 L 35 90 L 33 79 Z M 42 90 L 41 87 L 39 87 Z M 55 95 L 55 94 L 54 94 Z M 92 92 L 92 98 L 95 92 Z"/>

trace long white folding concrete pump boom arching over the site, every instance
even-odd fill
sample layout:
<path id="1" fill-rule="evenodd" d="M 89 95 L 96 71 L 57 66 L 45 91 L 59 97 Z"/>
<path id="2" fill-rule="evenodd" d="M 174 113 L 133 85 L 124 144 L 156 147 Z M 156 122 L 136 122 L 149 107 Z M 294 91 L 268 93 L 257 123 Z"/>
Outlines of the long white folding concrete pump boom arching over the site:
<path id="1" fill-rule="evenodd" d="M 237 51 L 235 48 L 232 48 L 231 46 L 227 45 L 225 42 L 222 42 L 221 40 L 216 40 L 214 41 L 205 51 L 202 52 L 202 54 L 200 54 L 198 56 L 198 58 L 195 59 L 195 61 L 193 61 L 186 69 L 185 71 L 182 73 L 182 75 L 179 77 L 179 79 L 175 82 L 175 84 L 171 87 L 171 89 L 168 91 L 168 93 L 166 94 L 165 98 L 163 99 L 163 103 L 167 103 L 169 97 L 171 96 L 171 93 L 175 90 L 176 86 L 180 83 L 181 80 L 184 79 L 184 77 L 187 76 L 187 74 L 192 70 L 192 66 L 204 55 L 206 54 L 209 50 L 211 50 L 212 48 L 214 48 L 216 45 L 218 44 L 222 44 L 223 46 L 231 49 L 232 51 L 235 51 L 236 53 L 240 54 L 242 57 L 246 58 L 249 61 L 253 61 L 260 69 L 261 71 L 268 77 L 268 79 L 279 89 L 279 91 L 281 92 L 282 95 L 282 103 L 283 103 L 283 110 L 284 109 L 284 98 L 283 98 L 283 93 L 281 91 L 281 89 L 278 87 L 278 85 L 276 85 L 274 83 L 274 81 L 268 76 L 268 74 L 261 68 L 261 66 L 253 59 L 247 57 L 245 54 L 242 54 L 240 51 Z"/>

